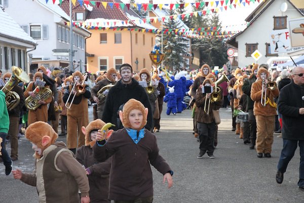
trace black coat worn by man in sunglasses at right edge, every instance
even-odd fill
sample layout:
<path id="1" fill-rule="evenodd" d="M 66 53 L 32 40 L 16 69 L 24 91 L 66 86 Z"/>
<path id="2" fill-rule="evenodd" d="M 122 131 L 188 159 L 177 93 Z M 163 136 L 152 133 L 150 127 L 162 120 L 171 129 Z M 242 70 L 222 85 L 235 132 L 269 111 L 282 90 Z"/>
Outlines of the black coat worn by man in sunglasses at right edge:
<path id="1" fill-rule="evenodd" d="M 299 108 L 304 107 L 304 87 L 291 81 L 281 89 L 278 110 L 282 114 L 282 138 L 288 140 L 304 140 L 304 115 L 299 114 Z"/>

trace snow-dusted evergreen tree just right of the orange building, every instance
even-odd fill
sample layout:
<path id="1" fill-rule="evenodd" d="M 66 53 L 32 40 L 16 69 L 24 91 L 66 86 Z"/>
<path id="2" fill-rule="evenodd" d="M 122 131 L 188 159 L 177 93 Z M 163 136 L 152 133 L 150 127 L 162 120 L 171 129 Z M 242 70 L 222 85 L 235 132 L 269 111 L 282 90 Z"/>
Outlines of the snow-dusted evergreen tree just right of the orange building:
<path id="1" fill-rule="evenodd" d="M 167 12 L 168 15 L 174 15 L 174 11 Z M 174 33 L 175 29 L 180 28 L 180 25 L 173 18 L 165 21 L 164 27 L 166 29 L 172 29 L 163 35 L 164 47 L 163 52 L 165 54 L 164 65 L 169 66 L 170 70 L 181 70 L 186 66 L 186 63 L 182 56 L 186 55 L 186 46 L 183 42 L 183 38 Z"/>

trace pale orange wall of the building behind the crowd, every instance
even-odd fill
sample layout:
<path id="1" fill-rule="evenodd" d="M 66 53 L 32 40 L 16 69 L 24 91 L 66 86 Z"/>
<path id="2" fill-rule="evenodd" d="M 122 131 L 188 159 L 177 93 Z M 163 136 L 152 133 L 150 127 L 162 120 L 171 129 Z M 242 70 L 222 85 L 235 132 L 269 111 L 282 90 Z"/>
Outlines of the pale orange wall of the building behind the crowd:
<path id="1" fill-rule="evenodd" d="M 143 67 L 151 69 L 152 62 L 148 54 L 155 45 L 154 33 L 113 29 L 90 31 L 92 36 L 87 39 L 87 53 L 94 54 L 94 57 L 87 57 L 87 71 L 91 73 L 100 71 L 100 57 L 107 59 L 107 69 L 115 67 L 116 57 L 122 58 L 123 63 L 131 64 L 133 71 L 140 71 Z M 121 44 L 115 44 L 115 32 L 121 33 Z M 100 33 L 107 33 L 107 42 L 105 44 L 100 43 Z M 138 64 L 135 63 L 136 59 Z"/>

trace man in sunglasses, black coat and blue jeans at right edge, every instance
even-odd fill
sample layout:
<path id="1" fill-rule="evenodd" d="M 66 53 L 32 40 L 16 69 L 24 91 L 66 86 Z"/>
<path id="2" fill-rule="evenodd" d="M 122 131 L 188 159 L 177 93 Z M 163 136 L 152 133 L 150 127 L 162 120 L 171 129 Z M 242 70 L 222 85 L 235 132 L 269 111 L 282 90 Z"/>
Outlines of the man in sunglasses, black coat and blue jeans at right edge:
<path id="1" fill-rule="evenodd" d="M 281 89 L 278 110 L 282 114 L 283 149 L 276 174 L 277 183 L 283 182 L 283 174 L 300 147 L 300 167 L 298 187 L 304 189 L 304 67 L 294 67 L 290 84 Z"/>

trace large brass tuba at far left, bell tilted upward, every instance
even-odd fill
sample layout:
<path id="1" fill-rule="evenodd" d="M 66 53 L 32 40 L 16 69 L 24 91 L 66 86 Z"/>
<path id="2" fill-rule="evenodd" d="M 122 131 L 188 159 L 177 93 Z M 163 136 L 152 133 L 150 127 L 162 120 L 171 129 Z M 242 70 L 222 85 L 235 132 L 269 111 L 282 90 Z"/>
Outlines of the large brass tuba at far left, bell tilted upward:
<path id="1" fill-rule="evenodd" d="M 20 81 L 28 83 L 28 75 L 22 71 L 20 67 L 12 66 L 12 76 L 2 88 L 2 91 L 5 93 L 5 102 L 9 111 L 13 110 L 20 103 L 20 97 L 17 92 L 11 91 Z"/>

